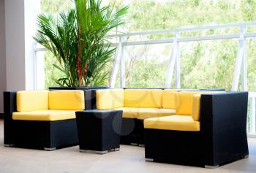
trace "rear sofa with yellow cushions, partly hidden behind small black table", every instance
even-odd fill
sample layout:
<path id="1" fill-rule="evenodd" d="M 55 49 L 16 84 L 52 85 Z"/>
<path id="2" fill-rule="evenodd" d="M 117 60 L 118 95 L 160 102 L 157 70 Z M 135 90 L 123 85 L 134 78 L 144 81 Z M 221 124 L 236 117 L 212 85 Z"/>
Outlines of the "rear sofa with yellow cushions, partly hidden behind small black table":
<path id="1" fill-rule="evenodd" d="M 143 145 L 143 120 L 175 115 L 172 89 L 123 89 L 96 91 L 97 109 L 123 110 L 121 144 Z"/>

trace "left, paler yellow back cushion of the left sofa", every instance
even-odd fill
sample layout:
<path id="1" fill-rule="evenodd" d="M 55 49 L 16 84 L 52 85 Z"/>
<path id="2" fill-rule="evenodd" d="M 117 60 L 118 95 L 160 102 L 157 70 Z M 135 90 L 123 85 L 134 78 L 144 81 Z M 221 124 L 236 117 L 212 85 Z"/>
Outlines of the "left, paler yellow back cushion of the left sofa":
<path id="1" fill-rule="evenodd" d="M 48 109 L 49 91 L 18 91 L 17 92 L 17 111 L 29 112 L 40 109 Z"/>

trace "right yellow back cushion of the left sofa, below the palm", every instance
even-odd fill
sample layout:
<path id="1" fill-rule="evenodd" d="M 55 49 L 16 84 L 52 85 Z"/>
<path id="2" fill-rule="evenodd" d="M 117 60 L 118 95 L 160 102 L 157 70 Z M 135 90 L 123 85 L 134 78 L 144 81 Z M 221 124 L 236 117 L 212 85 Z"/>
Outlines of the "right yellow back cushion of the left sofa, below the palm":
<path id="1" fill-rule="evenodd" d="M 83 110 L 85 99 L 83 91 L 50 91 L 49 108 L 53 110 Z"/>

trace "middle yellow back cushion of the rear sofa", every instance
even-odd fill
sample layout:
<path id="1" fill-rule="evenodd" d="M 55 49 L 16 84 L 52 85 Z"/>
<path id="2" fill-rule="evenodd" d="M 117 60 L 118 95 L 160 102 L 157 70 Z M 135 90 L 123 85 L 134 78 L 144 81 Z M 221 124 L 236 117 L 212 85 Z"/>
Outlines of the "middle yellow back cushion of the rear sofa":
<path id="1" fill-rule="evenodd" d="M 125 89 L 124 107 L 162 108 L 162 90 Z"/>

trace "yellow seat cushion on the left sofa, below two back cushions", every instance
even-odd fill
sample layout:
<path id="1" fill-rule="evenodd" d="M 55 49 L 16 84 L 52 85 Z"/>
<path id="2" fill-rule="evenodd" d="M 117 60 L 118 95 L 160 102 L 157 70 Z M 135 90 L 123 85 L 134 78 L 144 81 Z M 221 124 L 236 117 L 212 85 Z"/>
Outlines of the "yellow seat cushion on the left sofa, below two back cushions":
<path id="1" fill-rule="evenodd" d="M 69 120 L 75 119 L 75 110 L 36 110 L 31 112 L 13 112 L 13 120 Z"/>

